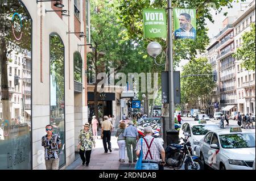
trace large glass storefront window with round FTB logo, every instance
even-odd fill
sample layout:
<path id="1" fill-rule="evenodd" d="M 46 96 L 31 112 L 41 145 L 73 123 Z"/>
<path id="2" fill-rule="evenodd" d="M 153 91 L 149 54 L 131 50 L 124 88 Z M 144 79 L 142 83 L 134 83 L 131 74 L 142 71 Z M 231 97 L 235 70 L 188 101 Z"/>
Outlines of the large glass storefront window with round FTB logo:
<path id="1" fill-rule="evenodd" d="M 0 2 L 0 169 L 31 169 L 32 20 L 20 1 Z"/>

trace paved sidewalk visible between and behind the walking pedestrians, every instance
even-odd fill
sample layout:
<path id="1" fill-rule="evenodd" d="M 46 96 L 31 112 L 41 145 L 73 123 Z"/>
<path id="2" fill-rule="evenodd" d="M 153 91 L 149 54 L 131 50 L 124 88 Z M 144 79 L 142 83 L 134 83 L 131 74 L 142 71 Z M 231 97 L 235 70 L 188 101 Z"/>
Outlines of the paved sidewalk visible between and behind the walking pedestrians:
<path id="1" fill-rule="evenodd" d="M 125 162 L 121 163 L 118 161 L 119 149 L 117 138 L 114 136 L 116 131 L 115 129 L 111 136 L 112 153 L 104 153 L 102 140 L 100 139 L 101 131 L 98 131 L 99 139 L 95 140 L 96 147 L 92 150 L 89 166 L 83 166 L 81 158 L 79 157 L 75 162 L 69 165 L 66 170 L 134 170 L 135 163 L 128 163 L 129 159 L 127 153 Z"/>

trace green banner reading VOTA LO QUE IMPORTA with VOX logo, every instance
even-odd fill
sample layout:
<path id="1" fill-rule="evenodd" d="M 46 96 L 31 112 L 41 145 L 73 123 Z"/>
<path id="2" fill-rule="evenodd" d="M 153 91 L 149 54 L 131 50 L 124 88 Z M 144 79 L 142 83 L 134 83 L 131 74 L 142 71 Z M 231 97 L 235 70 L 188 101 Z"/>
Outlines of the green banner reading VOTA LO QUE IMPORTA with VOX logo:
<path id="1" fill-rule="evenodd" d="M 167 36 L 165 9 L 143 9 L 144 38 Z"/>

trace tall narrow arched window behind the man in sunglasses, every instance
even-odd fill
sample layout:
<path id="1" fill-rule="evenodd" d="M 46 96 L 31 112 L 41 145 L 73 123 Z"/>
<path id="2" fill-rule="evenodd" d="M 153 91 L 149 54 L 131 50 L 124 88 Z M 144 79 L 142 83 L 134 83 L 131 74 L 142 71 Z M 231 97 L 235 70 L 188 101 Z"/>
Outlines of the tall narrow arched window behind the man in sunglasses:
<path id="1" fill-rule="evenodd" d="M 65 164 L 65 79 L 64 44 L 60 36 L 51 33 L 50 39 L 50 119 L 54 133 L 61 139 L 60 167 Z"/>

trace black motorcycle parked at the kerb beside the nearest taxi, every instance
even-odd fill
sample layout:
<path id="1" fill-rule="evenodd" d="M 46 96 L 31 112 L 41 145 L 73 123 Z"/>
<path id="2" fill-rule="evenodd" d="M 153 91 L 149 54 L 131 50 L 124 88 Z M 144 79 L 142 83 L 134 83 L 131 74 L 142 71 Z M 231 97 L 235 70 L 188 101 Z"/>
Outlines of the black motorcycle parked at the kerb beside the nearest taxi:
<path id="1" fill-rule="evenodd" d="M 185 134 L 182 144 L 170 144 L 166 148 L 166 167 L 180 169 L 185 163 L 185 170 L 203 170 L 203 163 L 199 157 L 192 156 L 191 143 Z M 186 158 L 187 156 L 187 158 Z"/>

